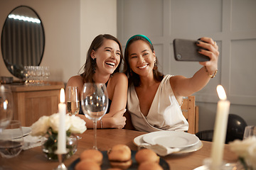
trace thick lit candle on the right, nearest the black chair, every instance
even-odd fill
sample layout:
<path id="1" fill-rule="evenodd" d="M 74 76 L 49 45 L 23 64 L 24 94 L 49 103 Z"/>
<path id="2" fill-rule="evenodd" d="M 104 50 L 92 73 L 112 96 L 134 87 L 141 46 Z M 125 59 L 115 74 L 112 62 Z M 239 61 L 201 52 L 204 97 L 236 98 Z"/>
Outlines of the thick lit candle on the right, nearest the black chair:
<path id="1" fill-rule="evenodd" d="M 217 113 L 215 118 L 215 127 L 213 133 L 213 147 L 211 150 L 211 165 L 212 169 L 218 169 L 223 163 L 223 149 L 225 145 L 225 137 L 228 124 L 228 113 L 230 109 L 230 101 L 227 101 L 227 96 L 223 86 L 217 86 L 218 101 Z"/>

